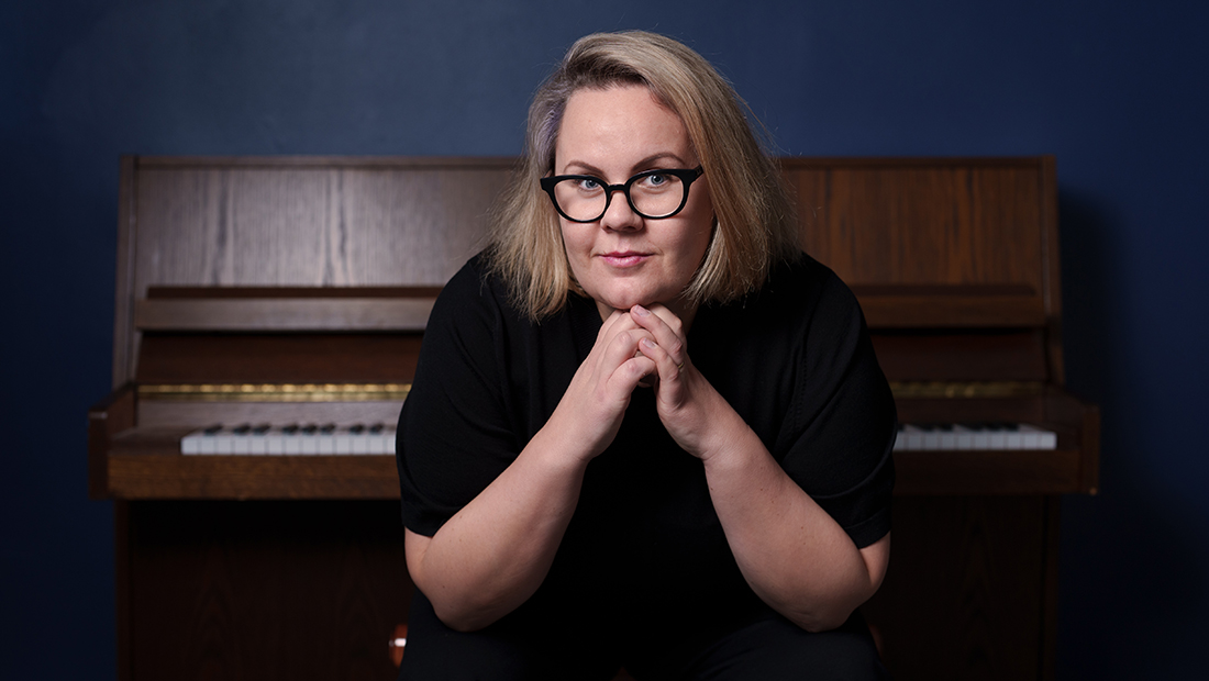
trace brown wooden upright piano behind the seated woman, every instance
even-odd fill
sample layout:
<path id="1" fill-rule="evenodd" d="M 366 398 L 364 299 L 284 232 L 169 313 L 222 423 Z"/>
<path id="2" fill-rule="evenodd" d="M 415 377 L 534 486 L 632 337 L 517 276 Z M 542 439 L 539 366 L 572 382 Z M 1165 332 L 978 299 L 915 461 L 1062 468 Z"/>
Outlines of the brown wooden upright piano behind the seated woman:
<path id="1" fill-rule="evenodd" d="M 88 454 L 91 495 L 116 500 L 120 679 L 393 677 L 412 589 L 398 482 L 355 437 L 393 427 L 432 301 L 481 246 L 510 167 L 122 159 L 114 392 Z M 1049 677 L 1058 499 L 1095 491 L 1099 435 L 1063 390 L 1053 159 L 782 167 L 902 421 L 1053 433 L 896 454 L 891 571 L 864 607 L 887 665 Z M 219 424 L 353 444 L 183 453 Z"/>

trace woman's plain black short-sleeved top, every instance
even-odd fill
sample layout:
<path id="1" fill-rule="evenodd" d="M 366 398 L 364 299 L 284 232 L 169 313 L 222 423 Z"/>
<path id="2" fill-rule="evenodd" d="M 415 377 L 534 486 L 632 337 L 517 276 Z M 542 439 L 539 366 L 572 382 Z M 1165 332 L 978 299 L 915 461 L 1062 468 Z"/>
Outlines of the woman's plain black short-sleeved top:
<path id="1" fill-rule="evenodd" d="M 602 324 L 577 296 L 531 322 L 485 269 L 476 256 L 441 292 L 399 419 L 403 519 L 421 535 L 435 534 L 545 424 Z M 803 255 L 757 293 L 702 307 L 688 355 L 857 547 L 890 531 L 893 398 L 856 298 L 834 273 Z M 617 438 L 589 464 L 550 574 L 519 612 L 542 607 L 655 621 L 760 607 L 701 462 L 667 435 L 649 389 L 635 390 Z"/>

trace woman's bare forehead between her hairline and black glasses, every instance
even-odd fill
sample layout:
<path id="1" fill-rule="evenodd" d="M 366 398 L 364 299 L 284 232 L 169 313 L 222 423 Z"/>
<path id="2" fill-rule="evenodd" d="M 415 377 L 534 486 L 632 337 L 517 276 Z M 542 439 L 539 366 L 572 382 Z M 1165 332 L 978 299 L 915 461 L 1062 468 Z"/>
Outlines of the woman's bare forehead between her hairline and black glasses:
<path id="1" fill-rule="evenodd" d="M 629 164 L 670 155 L 695 159 L 684 123 L 642 86 L 579 89 L 567 99 L 555 165 L 590 164 L 629 171 Z"/>

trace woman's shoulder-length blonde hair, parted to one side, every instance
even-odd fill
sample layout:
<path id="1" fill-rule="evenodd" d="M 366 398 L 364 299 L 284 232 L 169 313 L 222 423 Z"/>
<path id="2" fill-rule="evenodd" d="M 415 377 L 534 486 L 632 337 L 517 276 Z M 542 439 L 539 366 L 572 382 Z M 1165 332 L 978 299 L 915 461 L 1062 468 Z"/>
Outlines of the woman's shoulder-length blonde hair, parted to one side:
<path id="1" fill-rule="evenodd" d="M 729 302 L 764 284 L 773 264 L 800 250 L 797 219 L 775 163 L 744 116 L 745 104 L 700 54 L 652 33 L 579 39 L 542 85 L 528 114 L 525 156 L 492 214 L 491 269 L 531 319 L 583 293 L 562 243 L 557 214 L 538 180 L 554 173 L 567 100 L 583 88 L 640 85 L 684 123 L 710 179 L 715 226 L 705 258 L 684 296 L 695 304 Z"/>

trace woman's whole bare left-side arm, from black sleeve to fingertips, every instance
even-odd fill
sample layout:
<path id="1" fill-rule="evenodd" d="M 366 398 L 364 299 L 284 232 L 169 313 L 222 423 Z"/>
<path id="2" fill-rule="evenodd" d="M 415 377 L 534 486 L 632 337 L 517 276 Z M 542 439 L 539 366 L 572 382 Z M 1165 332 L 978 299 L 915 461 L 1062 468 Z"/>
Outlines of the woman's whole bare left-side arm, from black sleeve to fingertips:
<path id="1" fill-rule="evenodd" d="M 588 462 L 613 441 L 643 376 L 649 338 L 627 313 L 604 321 L 550 420 L 515 461 L 432 537 L 406 532 L 407 570 L 449 627 L 474 630 L 542 584 L 579 500 Z"/>

